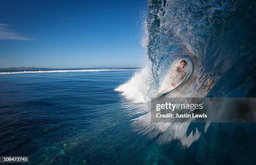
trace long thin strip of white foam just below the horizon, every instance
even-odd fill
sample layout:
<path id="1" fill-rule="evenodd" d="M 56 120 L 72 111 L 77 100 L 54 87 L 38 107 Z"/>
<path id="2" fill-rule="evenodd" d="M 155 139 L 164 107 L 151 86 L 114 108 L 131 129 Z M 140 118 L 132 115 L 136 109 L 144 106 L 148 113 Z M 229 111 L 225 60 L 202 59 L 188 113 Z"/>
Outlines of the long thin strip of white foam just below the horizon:
<path id="1" fill-rule="evenodd" d="M 139 70 L 139 69 L 38 70 L 38 71 L 20 71 L 20 72 L 0 72 L 0 75 L 20 74 L 20 73 L 100 72 L 100 71 L 126 71 L 126 70 Z"/>

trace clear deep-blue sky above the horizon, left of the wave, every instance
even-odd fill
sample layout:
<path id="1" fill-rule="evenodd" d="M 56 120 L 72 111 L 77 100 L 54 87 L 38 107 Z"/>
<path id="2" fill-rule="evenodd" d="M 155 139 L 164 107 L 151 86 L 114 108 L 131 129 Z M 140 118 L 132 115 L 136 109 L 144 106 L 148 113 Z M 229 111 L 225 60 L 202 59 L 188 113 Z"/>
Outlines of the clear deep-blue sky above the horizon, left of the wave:
<path id="1" fill-rule="evenodd" d="M 0 67 L 136 67 L 146 0 L 4 0 Z"/>

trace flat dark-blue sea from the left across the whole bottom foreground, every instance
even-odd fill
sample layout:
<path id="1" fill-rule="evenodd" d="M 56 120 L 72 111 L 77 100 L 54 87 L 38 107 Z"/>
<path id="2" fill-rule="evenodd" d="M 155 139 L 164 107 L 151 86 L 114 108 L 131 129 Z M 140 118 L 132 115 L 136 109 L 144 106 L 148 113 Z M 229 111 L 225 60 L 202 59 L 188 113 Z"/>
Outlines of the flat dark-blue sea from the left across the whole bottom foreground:
<path id="1" fill-rule="evenodd" d="M 254 123 L 212 123 L 206 133 L 191 124 L 187 136 L 196 128 L 201 136 L 189 147 L 143 125 L 147 105 L 114 90 L 134 72 L 0 75 L 0 155 L 42 165 L 255 162 Z"/>

